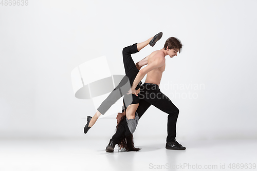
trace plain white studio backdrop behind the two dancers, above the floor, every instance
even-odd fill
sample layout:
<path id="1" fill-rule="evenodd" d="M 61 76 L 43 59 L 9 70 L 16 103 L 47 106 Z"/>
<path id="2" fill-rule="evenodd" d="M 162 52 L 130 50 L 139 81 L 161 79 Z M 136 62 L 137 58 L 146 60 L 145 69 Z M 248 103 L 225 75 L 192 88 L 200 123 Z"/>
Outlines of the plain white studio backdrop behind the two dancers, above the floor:
<path id="1" fill-rule="evenodd" d="M 161 49 L 170 36 L 181 40 L 182 52 L 166 57 L 161 81 L 161 91 L 180 110 L 177 137 L 256 138 L 256 5 L 170 0 L 1 5 L 0 138 L 84 137 L 86 116 L 96 110 L 91 100 L 75 98 L 71 70 L 105 55 L 111 73 L 124 74 L 122 48 L 160 31 L 156 46 L 133 58 L 137 62 Z M 99 119 L 86 136 L 111 138 L 113 118 Z M 151 107 L 135 139 L 160 136 L 164 142 L 166 127 L 166 113 Z"/>

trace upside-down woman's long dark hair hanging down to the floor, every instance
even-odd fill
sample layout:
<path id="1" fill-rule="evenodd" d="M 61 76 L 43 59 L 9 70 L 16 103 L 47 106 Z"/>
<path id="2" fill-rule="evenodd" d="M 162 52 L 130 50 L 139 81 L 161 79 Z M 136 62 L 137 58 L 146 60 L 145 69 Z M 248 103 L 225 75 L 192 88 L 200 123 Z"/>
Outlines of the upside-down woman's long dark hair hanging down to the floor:
<path id="1" fill-rule="evenodd" d="M 121 126 L 121 122 L 126 118 L 126 116 L 122 117 L 117 124 L 116 128 Z M 131 134 L 130 136 L 123 137 L 120 143 L 118 144 L 120 148 L 125 148 L 126 151 L 138 151 L 141 148 L 135 148 L 134 147 L 134 141 L 133 141 L 133 135 Z"/>

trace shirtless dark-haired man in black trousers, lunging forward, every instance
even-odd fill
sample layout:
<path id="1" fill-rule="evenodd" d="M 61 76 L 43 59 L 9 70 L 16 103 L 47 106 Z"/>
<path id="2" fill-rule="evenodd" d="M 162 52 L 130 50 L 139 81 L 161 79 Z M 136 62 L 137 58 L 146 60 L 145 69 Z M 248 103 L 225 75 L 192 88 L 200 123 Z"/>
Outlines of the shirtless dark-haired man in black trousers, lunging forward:
<path id="1" fill-rule="evenodd" d="M 180 52 L 182 48 L 181 42 L 176 37 L 170 37 L 164 44 L 163 49 L 152 52 L 148 56 L 148 66 L 141 69 L 133 82 L 133 85 L 130 91 L 127 94 L 133 93 L 136 96 L 139 96 L 140 103 L 137 108 L 137 113 L 139 119 L 142 117 L 143 113 L 151 106 L 154 105 L 163 112 L 168 113 L 168 136 L 167 136 L 167 149 L 175 150 L 185 150 L 186 147 L 183 147 L 179 144 L 176 137 L 176 123 L 178 118 L 179 110 L 171 102 L 171 100 L 165 96 L 159 89 L 159 84 L 162 77 L 162 72 L 165 70 L 165 57 L 167 55 L 170 58 L 177 55 L 177 52 Z M 145 83 L 140 87 L 140 93 L 136 91 L 136 86 L 144 78 L 147 73 Z M 106 149 L 114 148 L 115 144 L 120 141 L 122 132 L 117 129 L 116 134 L 110 140 Z M 108 152 L 108 151 L 107 151 Z"/>

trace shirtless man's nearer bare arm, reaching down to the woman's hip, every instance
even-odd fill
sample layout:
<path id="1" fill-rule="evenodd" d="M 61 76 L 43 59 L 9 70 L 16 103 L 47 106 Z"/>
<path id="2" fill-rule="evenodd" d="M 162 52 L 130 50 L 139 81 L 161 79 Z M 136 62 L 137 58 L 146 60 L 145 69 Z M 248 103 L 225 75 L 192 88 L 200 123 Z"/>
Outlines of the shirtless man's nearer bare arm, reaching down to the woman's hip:
<path id="1" fill-rule="evenodd" d="M 162 56 L 156 56 L 155 60 L 151 62 L 151 64 L 148 64 L 145 68 L 141 69 L 138 73 L 137 76 L 133 82 L 133 85 L 131 87 L 131 93 L 136 94 L 136 87 L 138 83 L 144 78 L 144 75 L 150 71 L 152 71 L 155 68 L 159 68 L 165 64 L 165 60 Z M 130 91 L 129 91 L 130 92 Z"/>

